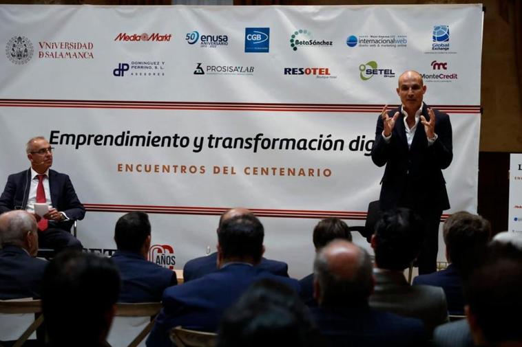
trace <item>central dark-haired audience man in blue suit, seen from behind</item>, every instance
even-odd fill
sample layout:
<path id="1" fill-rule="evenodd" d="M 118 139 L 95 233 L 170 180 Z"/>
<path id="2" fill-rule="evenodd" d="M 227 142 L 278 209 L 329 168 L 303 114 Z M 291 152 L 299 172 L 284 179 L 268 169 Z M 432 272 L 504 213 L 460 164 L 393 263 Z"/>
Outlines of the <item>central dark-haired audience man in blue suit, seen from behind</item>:
<path id="1" fill-rule="evenodd" d="M 299 282 L 255 267 L 264 252 L 264 230 L 252 214 L 227 219 L 218 230 L 219 270 L 163 293 L 163 309 L 147 339 L 149 347 L 171 346 L 169 329 L 175 326 L 216 331 L 222 313 L 263 278 L 289 285 L 296 292 Z"/>

